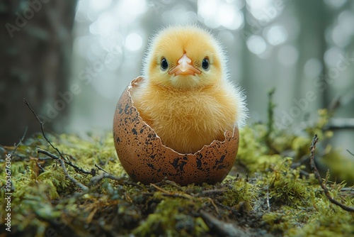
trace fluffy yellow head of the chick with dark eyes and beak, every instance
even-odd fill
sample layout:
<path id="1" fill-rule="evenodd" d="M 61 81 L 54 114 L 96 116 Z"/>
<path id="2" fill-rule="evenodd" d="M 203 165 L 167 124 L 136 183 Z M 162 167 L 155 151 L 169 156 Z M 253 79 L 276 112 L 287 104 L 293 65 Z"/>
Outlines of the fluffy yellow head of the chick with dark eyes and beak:
<path id="1" fill-rule="evenodd" d="M 150 83 L 173 89 L 198 89 L 227 78 L 222 47 L 198 26 L 171 26 L 149 45 L 144 77 Z"/>

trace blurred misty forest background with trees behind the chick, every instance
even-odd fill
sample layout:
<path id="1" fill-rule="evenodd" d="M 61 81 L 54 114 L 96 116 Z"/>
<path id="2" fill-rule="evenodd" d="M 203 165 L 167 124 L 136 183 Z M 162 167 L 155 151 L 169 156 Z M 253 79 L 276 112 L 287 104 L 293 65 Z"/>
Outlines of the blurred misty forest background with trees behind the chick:
<path id="1" fill-rule="evenodd" d="M 24 97 L 47 131 L 109 131 L 149 37 L 199 23 L 227 50 L 247 123 L 266 121 L 272 88 L 279 128 L 299 131 L 336 104 L 333 146 L 353 151 L 354 1 L 8 0 L 0 16 L 2 145 L 18 142 L 25 126 L 40 131 Z"/>

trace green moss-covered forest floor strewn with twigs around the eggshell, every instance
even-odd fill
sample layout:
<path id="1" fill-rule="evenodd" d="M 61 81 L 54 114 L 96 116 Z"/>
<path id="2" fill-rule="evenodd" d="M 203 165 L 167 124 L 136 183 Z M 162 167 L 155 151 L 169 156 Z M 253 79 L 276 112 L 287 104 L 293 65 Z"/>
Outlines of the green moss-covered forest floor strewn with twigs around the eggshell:
<path id="1" fill-rule="evenodd" d="M 331 196 L 354 206 L 353 158 L 323 145 L 333 135 L 325 129 L 329 118 L 319 111 L 317 122 L 297 135 L 275 128 L 271 119 L 246 126 L 232 171 L 214 185 L 132 182 L 111 132 L 85 139 L 47 134 L 68 161 L 87 171 L 65 165 L 77 183 L 57 160 L 38 153 L 58 156 L 42 134 L 26 138 L 11 155 L 6 185 L 6 155 L 14 147 L 0 146 L 0 236 L 354 236 L 354 213 L 329 202 L 308 169 L 316 133 L 316 163 Z M 4 225 L 8 213 L 11 232 Z"/>

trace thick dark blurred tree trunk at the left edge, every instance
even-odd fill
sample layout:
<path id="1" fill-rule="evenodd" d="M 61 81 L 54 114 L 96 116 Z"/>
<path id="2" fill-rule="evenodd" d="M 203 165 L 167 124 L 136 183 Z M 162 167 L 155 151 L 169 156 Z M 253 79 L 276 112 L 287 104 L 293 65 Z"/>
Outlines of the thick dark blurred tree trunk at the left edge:
<path id="1" fill-rule="evenodd" d="M 13 145 L 25 127 L 63 131 L 71 97 L 69 61 L 76 1 L 6 0 L 0 3 L 0 144 Z"/>

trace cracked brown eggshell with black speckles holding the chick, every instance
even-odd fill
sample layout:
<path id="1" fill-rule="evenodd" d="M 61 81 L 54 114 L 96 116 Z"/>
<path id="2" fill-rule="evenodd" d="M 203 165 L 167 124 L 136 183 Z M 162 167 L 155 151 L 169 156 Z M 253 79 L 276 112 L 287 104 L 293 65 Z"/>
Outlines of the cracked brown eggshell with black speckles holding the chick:
<path id="1" fill-rule="evenodd" d="M 118 158 L 135 182 L 160 182 L 166 177 L 181 185 L 222 182 L 236 159 L 239 130 L 225 131 L 225 140 L 214 140 L 194 154 L 166 147 L 154 129 L 139 116 L 130 90 L 138 89 L 137 77 L 125 89 L 115 109 L 113 138 Z"/>

